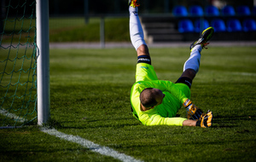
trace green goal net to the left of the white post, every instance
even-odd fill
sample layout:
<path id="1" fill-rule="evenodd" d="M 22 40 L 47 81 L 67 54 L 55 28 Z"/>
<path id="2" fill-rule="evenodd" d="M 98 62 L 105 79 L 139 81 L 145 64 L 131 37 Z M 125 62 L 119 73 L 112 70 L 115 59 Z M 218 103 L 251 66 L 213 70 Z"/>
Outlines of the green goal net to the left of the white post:
<path id="1" fill-rule="evenodd" d="M 0 126 L 37 119 L 36 0 L 1 0 Z"/>

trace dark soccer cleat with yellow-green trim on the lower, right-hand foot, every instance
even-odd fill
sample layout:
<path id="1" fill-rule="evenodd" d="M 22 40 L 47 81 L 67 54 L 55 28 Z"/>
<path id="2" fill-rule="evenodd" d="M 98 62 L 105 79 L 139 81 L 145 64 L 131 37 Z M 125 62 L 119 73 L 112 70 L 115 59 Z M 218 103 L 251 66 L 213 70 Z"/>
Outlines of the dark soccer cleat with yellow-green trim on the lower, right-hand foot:
<path id="1" fill-rule="evenodd" d="M 209 44 L 207 42 L 212 38 L 213 32 L 214 32 L 214 28 L 212 26 L 208 27 L 206 30 L 201 32 L 201 37 L 190 45 L 190 50 L 193 49 L 195 45 L 198 45 L 198 44 L 201 44 L 203 48 L 206 47 Z"/>

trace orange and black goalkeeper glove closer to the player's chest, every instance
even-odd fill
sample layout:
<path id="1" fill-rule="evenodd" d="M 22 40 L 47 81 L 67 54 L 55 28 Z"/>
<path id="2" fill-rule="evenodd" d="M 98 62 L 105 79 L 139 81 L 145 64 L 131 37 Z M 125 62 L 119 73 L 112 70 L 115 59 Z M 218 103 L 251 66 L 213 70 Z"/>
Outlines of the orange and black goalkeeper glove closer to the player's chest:
<path id="1" fill-rule="evenodd" d="M 203 116 L 206 114 L 201 111 L 200 108 L 196 107 L 192 101 L 187 99 L 186 101 L 183 102 L 183 106 L 186 107 L 187 109 L 187 119 L 193 119 L 193 120 L 198 120 L 202 119 Z"/>

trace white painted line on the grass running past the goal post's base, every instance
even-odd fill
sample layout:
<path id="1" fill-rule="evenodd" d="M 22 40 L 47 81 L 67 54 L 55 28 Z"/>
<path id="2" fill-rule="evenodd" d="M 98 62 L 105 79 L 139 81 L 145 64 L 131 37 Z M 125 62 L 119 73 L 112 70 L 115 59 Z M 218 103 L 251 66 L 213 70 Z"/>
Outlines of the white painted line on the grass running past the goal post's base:
<path id="1" fill-rule="evenodd" d="M 15 114 L 12 114 L 12 113 L 8 113 L 6 110 L 0 109 L 0 113 L 3 114 L 3 115 L 8 114 L 9 118 L 19 119 L 18 116 L 16 116 Z M 19 122 L 24 122 L 24 121 L 21 121 L 21 120 L 18 120 L 18 121 Z M 68 142 L 78 143 L 81 146 L 83 146 L 84 148 L 89 148 L 90 151 L 92 151 L 92 152 L 101 153 L 102 155 L 110 156 L 110 157 L 113 157 L 114 159 L 119 159 L 120 161 L 123 161 L 123 162 L 143 162 L 141 160 L 134 159 L 131 156 L 126 155 L 125 153 L 119 153 L 119 152 L 113 150 L 112 148 L 100 146 L 100 145 L 98 145 L 94 142 L 90 142 L 89 140 L 86 140 L 86 139 L 84 139 L 80 136 L 67 135 L 67 134 L 62 133 L 58 130 L 48 129 L 48 128 L 45 128 L 45 127 L 42 127 L 41 131 L 43 131 L 44 133 L 47 133 L 51 136 L 59 137 L 59 138 L 61 138 L 63 140 L 66 140 Z"/>

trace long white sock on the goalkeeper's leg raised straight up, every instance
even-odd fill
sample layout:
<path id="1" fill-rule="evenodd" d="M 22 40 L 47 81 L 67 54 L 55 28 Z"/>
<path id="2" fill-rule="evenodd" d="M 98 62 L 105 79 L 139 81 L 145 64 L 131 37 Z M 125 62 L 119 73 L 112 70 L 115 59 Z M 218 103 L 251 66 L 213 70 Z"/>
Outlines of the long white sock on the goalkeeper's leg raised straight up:
<path id="1" fill-rule="evenodd" d="M 130 12 L 130 38 L 133 47 L 137 50 L 142 44 L 147 45 L 144 40 L 143 27 L 137 15 L 137 7 L 129 7 Z"/>

